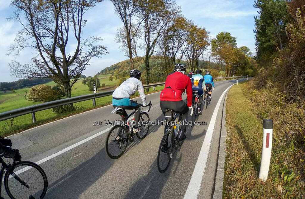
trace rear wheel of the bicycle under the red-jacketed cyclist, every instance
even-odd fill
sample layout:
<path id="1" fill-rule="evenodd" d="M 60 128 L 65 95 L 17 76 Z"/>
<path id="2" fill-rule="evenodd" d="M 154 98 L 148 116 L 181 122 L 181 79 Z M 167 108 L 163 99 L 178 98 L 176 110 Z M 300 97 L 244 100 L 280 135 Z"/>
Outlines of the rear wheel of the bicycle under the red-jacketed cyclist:
<path id="1" fill-rule="evenodd" d="M 157 165 L 160 173 L 167 170 L 172 155 L 173 142 L 171 130 L 164 134 L 158 151 Z"/>

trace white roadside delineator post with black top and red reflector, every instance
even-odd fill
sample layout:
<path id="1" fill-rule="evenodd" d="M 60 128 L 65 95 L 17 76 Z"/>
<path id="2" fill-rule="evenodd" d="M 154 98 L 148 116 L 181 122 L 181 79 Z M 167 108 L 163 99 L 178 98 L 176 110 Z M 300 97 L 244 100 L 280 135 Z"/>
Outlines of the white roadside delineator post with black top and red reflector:
<path id="1" fill-rule="evenodd" d="M 263 131 L 263 151 L 262 151 L 262 160 L 260 162 L 260 175 L 259 179 L 263 181 L 267 180 L 270 158 L 271 158 L 271 148 L 272 148 L 272 132 L 273 132 L 273 123 L 272 119 L 264 119 L 264 131 Z"/>

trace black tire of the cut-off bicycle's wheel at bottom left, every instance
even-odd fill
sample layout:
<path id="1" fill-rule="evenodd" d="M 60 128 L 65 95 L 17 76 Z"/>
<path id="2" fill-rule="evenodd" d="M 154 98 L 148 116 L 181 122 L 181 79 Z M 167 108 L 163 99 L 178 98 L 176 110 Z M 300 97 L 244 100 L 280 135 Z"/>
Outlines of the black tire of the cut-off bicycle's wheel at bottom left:
<path id="1" fill-rule="evenodd" d="M 44 180 L 44 189 L 40 195 L 40 199 L 43 198 L 45 196 L 45 194 L 47 193 L 47 189 L 48 189 L 48 178 L 47 178 L 47 175 L 45 174 L 45 171 L 36 163 L 34 162 L 29 162 L 29 161 L 21 161 L 21 162 L 18 162 L 16 163 L 12 169 L 16 169 L 18 166 L 20 165 L 27 165 L 27 166 L 31 166 L 32 168 L 35 168 L 37 169 L 41 176 L 43 177 L 43 180 Z M 10 192 L 9 190 L 9 185 L 8 185 L 8 181 L 9 181 L 9 172 L 5 172 L 5 175 L 4 175 L 4 188 L 5 188 L 5 191 L 6 193 L 8 194 L 8 196 L 12 199 L 15 199 L 15 197 L 12 195 L 12 193 Z"/>

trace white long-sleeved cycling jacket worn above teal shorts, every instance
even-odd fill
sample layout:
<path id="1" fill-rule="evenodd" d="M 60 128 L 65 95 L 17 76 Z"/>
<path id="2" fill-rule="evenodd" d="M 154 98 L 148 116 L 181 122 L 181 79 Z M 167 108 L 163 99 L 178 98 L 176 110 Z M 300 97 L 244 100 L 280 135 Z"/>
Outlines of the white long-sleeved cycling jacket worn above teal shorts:
<path id="1" fill-rule="evenodd" d="M 130 77 L 115 89 L 112 94 L 113 98 L 130 98 L 131 95 L 139 91 L 143 106 L 146 106 L 145 92 L 142 82 L 135 77 Z"/>

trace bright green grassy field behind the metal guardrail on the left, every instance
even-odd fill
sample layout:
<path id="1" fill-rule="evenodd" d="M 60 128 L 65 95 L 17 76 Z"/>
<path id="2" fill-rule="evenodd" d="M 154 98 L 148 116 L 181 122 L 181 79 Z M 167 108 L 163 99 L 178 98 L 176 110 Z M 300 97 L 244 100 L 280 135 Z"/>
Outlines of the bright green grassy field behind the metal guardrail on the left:
<path id="1" fill-rule="evenodd" d="M 113 78 L 112 81 L 108 81 L 109 75 L 100 75 L 98 76 L 100 80 L 100 84 L 103 83 L 106 85 L 105 87 L 100 87 L 99 92 L 105 91 L 105 90 L 114 90 L 115 87 L 118 85 L 118 80 L 115 80 Z M 127 77 L 126 77 L 127 78 Z M 85 94 L 91 94 L 93 91 L 88 91 L 88 86 L 81 83 L 81 80 L 78 80 L 71 90 L 72 97 L 78 96 L 78 95 L 85 95 Z M 47 85 L 54 86 L 56 85 L 54 82 L 48 82 Z M 108 86 L 107 86 L 108 85 Z M 164 86 L 156 87 L 157 91 L 160 91 L 163 89 Z M 28 91 L 30 88 L 23 88 L 16 90 L 16 93 L 24 93 L 25 91 Z M 135 96 L 138 94 L 136 93 Z M 96 106 L 101 107 L 104 105 L 111 104 L 112 97 L 106 96 L 102 98 L 96 99 Z M 41 102 L 33 102 L 33 101 L 27 101 L 24 99 L 23 96 L 16 95 L 12 92 L 7 93 L 0 93 L 0 112 L 6 112 L 10 111 L 16 108 L 22 108 L 26 106 L 31 106 L 35 104 L 40 104 Z M 34 125 L 32 123 L 32 117 L 31 114 L 22 115 L 13 119 L 8 119 L 6 121 L 0 122 L 0 135 L 8 135 L 20 132 L 22 130 L 26 130 L 28 128 L 31 128 L 33 126 L 38 126 L 43 123 L 48 123 L 50 121 L 60 119 L 67 117 L 69 115 L 74 115 L 79 112 L 84 112 L 86 110 L 90 110 L 93 107 L 92 100 L 87 101 L 81 101 L 74 104 L 75 107 L 77 107 L 77 110 L 74 112 L 69 112 L 62 115 L 57 115 L 56 113 L 52 112 L 52 109 L 43 110 L 39 112 L 35 112 L 37 123 Z"/>

